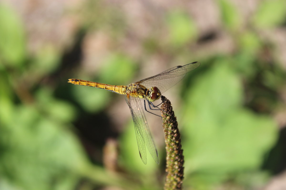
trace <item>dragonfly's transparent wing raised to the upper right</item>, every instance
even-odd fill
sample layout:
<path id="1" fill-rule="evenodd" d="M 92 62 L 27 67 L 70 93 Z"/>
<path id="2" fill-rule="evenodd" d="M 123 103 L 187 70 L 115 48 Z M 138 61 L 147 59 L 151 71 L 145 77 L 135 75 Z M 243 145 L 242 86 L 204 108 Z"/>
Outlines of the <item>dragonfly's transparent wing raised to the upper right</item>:
<path id="1" fill-rule="evenodd" d="M 186 73 L 198 68 L 198 66 L 200 66 L 200 62 L 193 62 L 184 66 L 176 66 L 136 83 L 139 83 L 146 88 L 156 86 L 159 88 L 160 92 L 163 93 L 182 80 Z"/>

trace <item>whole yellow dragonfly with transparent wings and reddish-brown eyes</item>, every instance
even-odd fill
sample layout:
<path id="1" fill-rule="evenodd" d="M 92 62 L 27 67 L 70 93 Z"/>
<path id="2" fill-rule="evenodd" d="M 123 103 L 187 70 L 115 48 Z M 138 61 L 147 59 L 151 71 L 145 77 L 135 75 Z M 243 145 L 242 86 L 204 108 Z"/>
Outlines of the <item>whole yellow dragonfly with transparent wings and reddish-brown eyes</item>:
<path id="1" fill-rule="evenodd" d="M 198 66 L 200 66 L 200 62 L 193 62 L 184 66 L 176 66 L 155 76 L 142 79 L 127 86 L 108 85 L 80 79 L 68 79 L 68 83 L 106 89 L 125 95 L 125 100 L 130 108 L 131 116 L 134 122 L 140 157 L 143 163 L 146 164 L 147 146 L 152 158 L 157 164 L 159 164 L 158 151 L 146 120 L 145 111 L 154 115 L 156 114 L 146 109 L 146 102 L 148 103 L 150 110 L 159 110 L 156 109 L 158 105 L 154 105 L 153 102 L 161 97 L 161 93 L 177 84 L 186 75 L 186 73 L 198 68 Z M 144 108 L 142 101 L 144 101 Z"/>

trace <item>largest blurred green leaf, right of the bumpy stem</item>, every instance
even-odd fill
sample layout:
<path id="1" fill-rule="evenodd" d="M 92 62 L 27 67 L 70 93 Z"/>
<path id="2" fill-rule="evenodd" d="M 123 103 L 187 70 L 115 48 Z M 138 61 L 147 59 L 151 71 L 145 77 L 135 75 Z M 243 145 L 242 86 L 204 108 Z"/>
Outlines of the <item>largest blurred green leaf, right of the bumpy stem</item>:
<path id="1" fill-rule="evenodd" d="M 241 106 L 243 89 L 227 61 L 219 60 L 188 94 L 182 130 L 186 174 L 212 173 L 223 179 L 229 172 L 260 166 L 277 127 L 270 117 Z"/>

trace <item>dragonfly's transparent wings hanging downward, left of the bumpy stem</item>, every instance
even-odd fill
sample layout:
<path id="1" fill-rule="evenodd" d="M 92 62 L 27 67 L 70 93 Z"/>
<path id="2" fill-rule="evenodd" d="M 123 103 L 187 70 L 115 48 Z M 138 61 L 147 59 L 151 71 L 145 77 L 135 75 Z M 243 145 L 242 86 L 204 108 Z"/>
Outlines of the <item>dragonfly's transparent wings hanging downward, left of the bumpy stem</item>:
<path id="1" fill-rule="evenodd" d="M 135 133 L 136 133 L 139 153 L 143 163 L 144 164 L 147 163 L 146 149 L 145 149 L 145 144 L 146 144 L 151 156 L 153 157 L 155 162 L 159 164 L 158 152 L 145 117 L 144 108 L 141 103 L 142 99 L 140 98 L 134 99 L 134 97 L 133 99 L 130 99 L 129 94 L 127 94 L 125 96 L 125 100 L 131 111 L 132 119 L 135 126 Z"/>

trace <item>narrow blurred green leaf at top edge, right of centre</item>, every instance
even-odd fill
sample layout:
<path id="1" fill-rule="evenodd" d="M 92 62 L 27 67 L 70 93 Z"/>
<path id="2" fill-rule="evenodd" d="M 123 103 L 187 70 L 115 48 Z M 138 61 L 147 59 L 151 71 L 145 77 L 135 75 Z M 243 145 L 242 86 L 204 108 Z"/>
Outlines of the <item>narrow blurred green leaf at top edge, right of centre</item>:
<path id="1" fill-rule="evenodd" d="M 221 9 L 221 17 L 223 23 L 232 31 L 238 30 L 242 20 L 237 8 L 231 4 L 229 0 L 219 0 L 219 8 Z"/>

